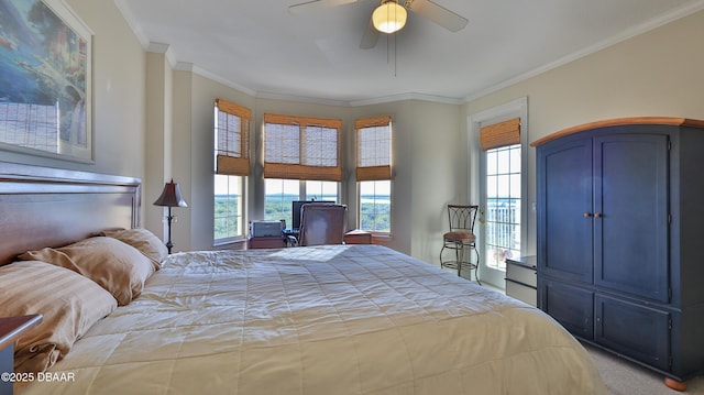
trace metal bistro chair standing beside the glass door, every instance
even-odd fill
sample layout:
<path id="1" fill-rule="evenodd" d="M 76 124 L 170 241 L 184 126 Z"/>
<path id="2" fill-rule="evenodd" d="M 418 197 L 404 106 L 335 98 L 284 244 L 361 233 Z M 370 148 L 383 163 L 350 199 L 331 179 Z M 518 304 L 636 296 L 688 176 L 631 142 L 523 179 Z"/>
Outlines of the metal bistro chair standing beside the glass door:
<path id="1" fill-rule="evenodd" d="M 450 231 L 442 235 L 442 250 L 440 250 L 440 266 L 455 268 L 458 276 L 463 268 L 470 270 L 470 281 L 472 270 L 476 283 L 480 282 L 480 253 L 476 251 L 476 237 L 474 235 L 474 222 L 480 210 L 479 206 L 448 205 L 448 218 L 450 219 Z M 443 260 L 446 249 L 454 250 L 454 260 Z M 476 254 L 476 262 L 472 262 L 471 250 Z M 446 254 L 447 255 L 447 254 Z"/>

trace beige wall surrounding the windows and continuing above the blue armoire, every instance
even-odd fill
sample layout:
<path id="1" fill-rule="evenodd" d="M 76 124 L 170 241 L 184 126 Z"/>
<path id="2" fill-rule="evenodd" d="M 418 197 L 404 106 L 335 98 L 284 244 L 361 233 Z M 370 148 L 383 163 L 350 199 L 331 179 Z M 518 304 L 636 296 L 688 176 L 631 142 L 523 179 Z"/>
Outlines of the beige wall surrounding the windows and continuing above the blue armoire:
<path id="1" fill-rule="evenodd" d="M 632 116 L 704 118 L 701 52 L 704 12 L 636 36 L 562 67 L 463 106 L 403 100 L 346 107 L 253 97 L 190 72 L 175 73 L 174 157 L 190 207 L 175 234 L 183 249 L 210 249 L 212 190 L 212 101 L 223 97 L 253 109 L 252 149 L 255 154 L 249 183 L 250 219 L 263 217 L 261 123 L 265 112 L 343 120 L 343 151 L 348 154 L 342 194 L 355 211 L 353 122 L 388 113 L 394 120 L 394 237 L 389 245 L 427 262 L 438 262 L 444 206 L 466 202 L 468 117 L 520 97 L 528 98 L 528 141 L 562 128 L 598 119 Z M 178 99 L 176 99 L 178 98 Z M 184 101 L 178 105 L 178 101 Z M 191 112 L 188 113 L 190 106 Z M 176 120 L 177 119 L 177 120 Z M 190 130 L 188 130 L 190 128 Z M 183 142 L 189 142 L 190 145 Z M 180 147 L 178 147 L 180 146 Z M 184 165 L 187 163 L 187 165 Z M 535 201 L 535 150 L 529 149 L 528 200 Z M 530 207 L 530 206 L 529 206 Z M 355 219 L 351 218 L 352 223 Z M 528 219 L 527 252 L 535 252 L 535 212 Z M 179 234 L 178 232 L 183 232 Z M 190 237 L 189 237 L 190 234 Z"/>

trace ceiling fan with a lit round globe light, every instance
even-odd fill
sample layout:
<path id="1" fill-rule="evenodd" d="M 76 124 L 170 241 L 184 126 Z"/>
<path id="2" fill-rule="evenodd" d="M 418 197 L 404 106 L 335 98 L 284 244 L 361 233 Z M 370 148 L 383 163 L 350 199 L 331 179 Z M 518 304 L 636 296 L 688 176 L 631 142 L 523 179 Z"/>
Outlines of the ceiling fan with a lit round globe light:
<path id="1" fill-rule="evenodd" d="M 288 8 L 292 14 L 300 14 L 318 9 L 349 4 L 365 0 L 312 0 Z M 374 10 L 360 47 L 372 48 L 378 41 L 380 33 L 394 33 L 406 24 L 406 10 L 431 20 L 442 28 L 458 32 L 466 26 L 468 20 L 442 6 L 430 0 L 381 0 L 381 6 Z"/>

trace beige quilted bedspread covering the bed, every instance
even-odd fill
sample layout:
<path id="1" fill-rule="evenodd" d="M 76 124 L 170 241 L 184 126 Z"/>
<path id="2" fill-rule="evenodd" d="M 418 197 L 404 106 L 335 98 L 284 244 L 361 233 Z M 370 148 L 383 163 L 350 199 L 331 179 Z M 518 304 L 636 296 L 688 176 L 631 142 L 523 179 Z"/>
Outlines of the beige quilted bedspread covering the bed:
<path id="1" fill-rule="evenodd" d="M 541 311 L 376 245 L 174 254 L 52 371 L 22 393 L 605 393 Z"/>

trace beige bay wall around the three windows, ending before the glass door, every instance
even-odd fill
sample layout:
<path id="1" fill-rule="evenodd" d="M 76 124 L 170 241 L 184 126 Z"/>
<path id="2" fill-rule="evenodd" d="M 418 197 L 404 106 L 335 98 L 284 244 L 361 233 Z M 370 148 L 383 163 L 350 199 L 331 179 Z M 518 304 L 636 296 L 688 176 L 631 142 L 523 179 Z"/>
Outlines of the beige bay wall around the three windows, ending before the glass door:
<path id="1" fill-rule="evenodd" d="M 178 97 L 178 100 L 174 100 L 175 136 L 178 141 L 189 142 L 189 145 L 174 142 L 174 157 L 178 158 L 178 164 L 174 163 L 174 167 L 179 167 L 178 172 L 173 172 L 174 177 L 179 179 L 182 191 L 189 202 L 188 209 L 178 209 L 179 222 L 174 227 L 176 251 L 213 248 L 212 106 L 217 98 L 223 98 L 253 110 L 251 149 L 254 154 L 252 176 L 249 177 L 248 184 L 250 220 L 262 219 L 264 216 L 264 113 L 342 119 L 342 152 L 345 153 L 345 162 L 341 196 L 343 202 L 349 205 L 348 222 L 351 227 L 356 226 L 354 120 L 391 114 L 395 133 L 395 178 L 392 202 L 393 238 L 387 244 L 425 261 L 437 261 L 440 244 L 439 240 L 433 239 L 438 238 L 437 233 L 444 226 L 443 205 L 464 194 L 463 185 L 457 183 L 458 177 L 463 177 L 458 176 L 458 172 L 463 172 L 463 168 L 455 165 L 463 154 L 458 144 L 459 106 L 417 100 L 363 107 L 331 106 L 255 98 L 191 72 L 175 72 L 174 78 L 174 96 Z M 189 103 L 180 103 L 185 98 L 190 98 Z M 188 162 L 188 165 L 185 165 L 185 162 Z M 187 218 L 182 221 L 184 217 Z M 187 241 L 183 241 L 184 239 Z M 413 240 L 418 242 L 414 243 Z"/>

